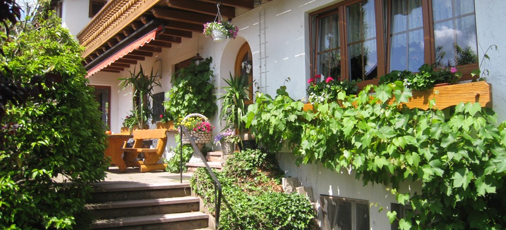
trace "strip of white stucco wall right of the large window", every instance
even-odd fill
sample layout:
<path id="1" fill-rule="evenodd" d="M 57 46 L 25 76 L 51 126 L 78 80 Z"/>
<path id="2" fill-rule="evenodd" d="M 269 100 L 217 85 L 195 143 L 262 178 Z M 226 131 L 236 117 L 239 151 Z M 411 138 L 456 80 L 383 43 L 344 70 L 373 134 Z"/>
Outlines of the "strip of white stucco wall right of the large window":
<path id="1" fill-rule="evenodd" d="M 475 1 L 476 30 L 478 36 L 478 58 L 481 73 L 492 85 L 493 109 L 498 114 L 498 122 L 506 120 L 506 2 L 503 0 Z M 497 45 L 498 50 L 489 50 L 490 60 L 483 60 L 490 45 Z"/>

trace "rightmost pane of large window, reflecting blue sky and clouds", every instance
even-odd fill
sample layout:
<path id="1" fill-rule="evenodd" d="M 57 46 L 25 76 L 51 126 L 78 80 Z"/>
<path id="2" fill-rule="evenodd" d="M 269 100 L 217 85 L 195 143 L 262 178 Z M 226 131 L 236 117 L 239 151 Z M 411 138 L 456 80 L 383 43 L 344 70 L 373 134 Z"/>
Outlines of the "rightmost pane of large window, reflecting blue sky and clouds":
<path id="1" fill-rule="evenodd" d="M 441 16 L 443 9 L 445 17 Z M 453 66 L 476 63 L 478 60 L 474 1 L 432 0 L 432 11 L 436 64 Z"/>

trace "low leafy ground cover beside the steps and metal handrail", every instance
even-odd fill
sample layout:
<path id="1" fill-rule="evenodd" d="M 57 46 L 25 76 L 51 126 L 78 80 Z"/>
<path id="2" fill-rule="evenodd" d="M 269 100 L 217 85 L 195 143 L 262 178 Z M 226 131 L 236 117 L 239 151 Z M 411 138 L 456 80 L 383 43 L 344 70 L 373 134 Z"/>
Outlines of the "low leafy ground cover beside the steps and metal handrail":
<path id="1" fill-rule="evenodd" d="M 314 218 L 309 200 L 302 195 L 274 191 L 281 175 L 272 155 L 245 150 L 227 158 L 222 172 L 215 171 L 223 188 L 220 229 L 308 229 Z M 193 190 L 214 213 L 214 185 L 199 168 L 191 179 Z"/>

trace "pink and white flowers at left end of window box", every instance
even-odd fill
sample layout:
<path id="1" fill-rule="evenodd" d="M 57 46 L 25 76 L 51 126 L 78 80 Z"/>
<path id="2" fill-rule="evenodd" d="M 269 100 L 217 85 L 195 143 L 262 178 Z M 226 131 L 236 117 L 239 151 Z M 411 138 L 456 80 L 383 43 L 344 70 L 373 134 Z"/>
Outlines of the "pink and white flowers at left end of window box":
<path id="1" fill-rule="evenodd" d="M 325 80 L 318 82 L 320 79 Z M 357 81 L 355 80 L 341 81 L 339 77 L 337 79 L 332 77 L 325 78 L 325 76 L 320 74 L 309 79 L 308 83 L 308 102 L 311 104 L 336 101 L 341 92 L 346 93 L 346 95 L 351 95 L 356 94 L 358 90 Z"/>

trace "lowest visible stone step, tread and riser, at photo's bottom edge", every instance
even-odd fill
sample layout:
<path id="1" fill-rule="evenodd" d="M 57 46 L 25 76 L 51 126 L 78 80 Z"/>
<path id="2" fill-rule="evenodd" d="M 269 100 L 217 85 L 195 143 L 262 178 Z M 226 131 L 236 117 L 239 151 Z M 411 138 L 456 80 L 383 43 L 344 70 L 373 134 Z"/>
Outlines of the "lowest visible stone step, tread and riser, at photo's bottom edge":
<path id="1" fill-rule="evenodd" d="M 91 225 L 91 228 L 168 230 L 199 229 L 208 226 L 208 218 L 209 216 L 207 214 L 201 212 L 121 217 L 97 220 Z"/>

